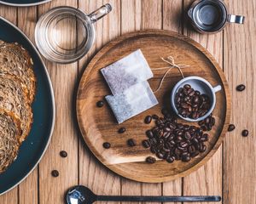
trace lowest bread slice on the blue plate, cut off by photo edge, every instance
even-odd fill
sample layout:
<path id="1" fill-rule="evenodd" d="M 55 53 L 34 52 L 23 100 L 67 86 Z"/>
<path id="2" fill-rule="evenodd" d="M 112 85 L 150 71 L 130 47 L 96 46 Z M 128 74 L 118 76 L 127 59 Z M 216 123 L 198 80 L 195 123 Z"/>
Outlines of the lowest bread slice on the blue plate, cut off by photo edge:
<path id="1" fill-rule="evenodd" d="M 0 109 L 0 173 L 15 161 L 20 148 L 20 121 L 9 111 Z"/>

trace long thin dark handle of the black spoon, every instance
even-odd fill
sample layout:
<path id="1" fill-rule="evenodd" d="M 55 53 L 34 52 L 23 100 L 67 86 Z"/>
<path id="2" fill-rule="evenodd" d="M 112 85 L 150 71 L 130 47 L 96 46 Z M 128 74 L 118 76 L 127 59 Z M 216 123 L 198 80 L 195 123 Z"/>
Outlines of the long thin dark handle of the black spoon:
<path id="1" fill-rule="evenodd" d="M 218 195 L 196 195 L 196 196 L 129 196 L 129 195 L 97 195 L 97 201 L 221 201 Z"/>

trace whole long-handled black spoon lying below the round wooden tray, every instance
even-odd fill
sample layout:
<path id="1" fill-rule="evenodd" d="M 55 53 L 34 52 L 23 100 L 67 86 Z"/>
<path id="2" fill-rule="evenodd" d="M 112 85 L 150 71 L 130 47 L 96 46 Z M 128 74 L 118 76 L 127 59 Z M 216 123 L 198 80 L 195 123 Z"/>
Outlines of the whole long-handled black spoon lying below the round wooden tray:
<path id="1" fill-rule="evenodd" d="M 83 185 L 77 185 L 68 190 L 67 204 L 91 204 L 94 201 L 221 201 L 220 196 L 125 196 L 125 195 L 95 195 Z"/>

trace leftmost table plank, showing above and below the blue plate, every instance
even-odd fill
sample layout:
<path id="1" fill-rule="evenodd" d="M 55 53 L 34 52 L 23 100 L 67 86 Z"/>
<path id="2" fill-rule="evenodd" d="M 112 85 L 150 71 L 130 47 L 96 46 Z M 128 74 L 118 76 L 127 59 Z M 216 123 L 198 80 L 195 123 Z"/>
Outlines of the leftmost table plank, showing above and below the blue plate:
<path id="1" fill-rule="evenodd" d="M 17 9 L 10 8 L 8 6 L 0 6 L 0 15 L 16 25 L 17 22 Z M 1 181 L 0 181 L 1 182 Z M 0 196 L 1 204 L 18 204 L 19 187 L 15 187 L 13 190 Z"/>

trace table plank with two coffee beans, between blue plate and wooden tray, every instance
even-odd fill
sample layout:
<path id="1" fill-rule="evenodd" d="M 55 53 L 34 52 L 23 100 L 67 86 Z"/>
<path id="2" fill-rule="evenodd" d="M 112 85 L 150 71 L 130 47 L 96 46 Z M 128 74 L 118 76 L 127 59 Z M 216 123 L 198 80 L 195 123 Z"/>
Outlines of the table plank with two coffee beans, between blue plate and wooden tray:
<path id="1" fill-rule="evenodd" d="M 61 5 L 78 6 L 76 1 L 52 1 L 40 5 L 38 14 L 40 16 L 49 8 Z M 70 33 L 60 36 L 61 39 L 65 39 L 65 35 L 70 35 Z M 79 183 L 78 137 L 73 120 L 73 90 L 78 77 L 78 63 L 57 65 L 49 61 L 45 62 L 53 83 L 56 116 L 55 130 L 49 148 L 39 164 L 38 200 L 43 204 L 62 203 L 66 190 Z M 60 156 L 61 150 L 67 151 L 66 158 Z M 51 176 L 51 171 L 54 169 L 60 173 L 57 178 Z"/>

